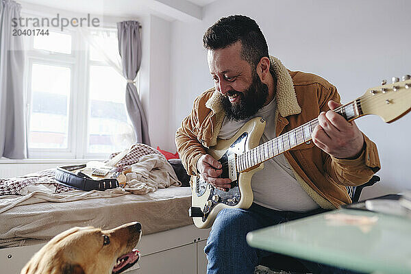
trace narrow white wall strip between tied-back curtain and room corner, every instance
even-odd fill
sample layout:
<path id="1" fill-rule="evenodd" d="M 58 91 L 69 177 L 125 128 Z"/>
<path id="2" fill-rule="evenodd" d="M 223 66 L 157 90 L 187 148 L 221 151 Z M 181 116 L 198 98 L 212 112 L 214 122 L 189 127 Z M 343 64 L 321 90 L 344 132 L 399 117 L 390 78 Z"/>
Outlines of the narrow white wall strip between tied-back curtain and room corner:
<path id="1" fill-rule="evenodd" d="M 142 29 L 141 101 L 149 123 L 151 146 L 175 152 L 169 132 L 171 23 L 149 15 Z"/>

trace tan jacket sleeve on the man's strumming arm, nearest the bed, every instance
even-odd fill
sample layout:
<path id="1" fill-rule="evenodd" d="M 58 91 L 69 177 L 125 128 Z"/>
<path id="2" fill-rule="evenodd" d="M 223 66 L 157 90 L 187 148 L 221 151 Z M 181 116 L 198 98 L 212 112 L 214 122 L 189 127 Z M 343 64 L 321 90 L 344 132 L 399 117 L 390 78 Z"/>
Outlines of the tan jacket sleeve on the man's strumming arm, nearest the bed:
<path id="1" fill-rule="evenodd" d="M 197 161 L 201 155 L 206 154 L 203 145 L 197 140 L 198 105 L 199 98 L 195 99 L 190 115 L 182 121 L 175 134 L 175 145 L 188 175 L 197 175 Z"/>

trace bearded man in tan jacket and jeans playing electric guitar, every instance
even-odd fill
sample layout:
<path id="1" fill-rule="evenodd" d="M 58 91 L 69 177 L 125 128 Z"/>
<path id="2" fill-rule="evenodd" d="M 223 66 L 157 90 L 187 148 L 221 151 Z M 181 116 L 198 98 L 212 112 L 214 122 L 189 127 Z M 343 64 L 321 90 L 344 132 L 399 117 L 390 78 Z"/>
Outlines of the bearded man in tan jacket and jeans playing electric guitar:
<path id="1" fill-rule="evenodd" d="M 312 142 L 264 162 L 253 175 L 254 202 L 248 210 L 221 210 L 206 248 L 208 273 L 253 273 L 266 253 L 247 245 L 246 234 L 351 203 L 345 186 L 367 182 L 379 170 L 377 148 L 355 123 L 330 109 L 340 95 L 325 79 L 288 71 L 269 55 L 257 23 L 247 16 L 221 18 L 203 36 L 214 88 L 195 99 L 177 130 L 176 144 L 189 175 L 217 188 L 221 164 L 206 153 L 217 139 L 232 138 L 249 119 L 262 116 L 261 143 L 318 116 Z M 313 273 L 336 269 L 303 261 Z"/>

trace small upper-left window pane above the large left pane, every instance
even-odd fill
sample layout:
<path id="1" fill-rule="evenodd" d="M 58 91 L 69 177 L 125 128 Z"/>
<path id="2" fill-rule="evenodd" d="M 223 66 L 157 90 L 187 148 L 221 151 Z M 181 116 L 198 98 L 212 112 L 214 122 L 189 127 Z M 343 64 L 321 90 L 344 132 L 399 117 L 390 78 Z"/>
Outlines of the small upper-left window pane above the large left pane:
<path id="1" fill-rule="evenodd" d="M 71 54 L 71 35 L 49 31 L 48 36 L 34 36 L 33 47 L 34 49 Z"/>

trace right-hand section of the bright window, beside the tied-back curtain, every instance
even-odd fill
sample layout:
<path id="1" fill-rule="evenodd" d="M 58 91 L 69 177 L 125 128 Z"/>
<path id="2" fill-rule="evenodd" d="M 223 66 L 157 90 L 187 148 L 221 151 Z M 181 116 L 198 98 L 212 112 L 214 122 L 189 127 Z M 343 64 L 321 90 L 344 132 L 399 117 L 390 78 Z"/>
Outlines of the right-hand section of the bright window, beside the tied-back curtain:
<path id="1" fill-rule="evenodd" d="M 104 52 L 119 59 L 115 32 L 92 32 Z M 89 47 L 88 149 L 90 153 L 118 151 L 130 145 L 134 133 L 125 109 L 124 77 L 108 66 L 99 52 Z"/>

